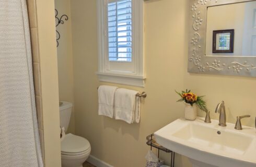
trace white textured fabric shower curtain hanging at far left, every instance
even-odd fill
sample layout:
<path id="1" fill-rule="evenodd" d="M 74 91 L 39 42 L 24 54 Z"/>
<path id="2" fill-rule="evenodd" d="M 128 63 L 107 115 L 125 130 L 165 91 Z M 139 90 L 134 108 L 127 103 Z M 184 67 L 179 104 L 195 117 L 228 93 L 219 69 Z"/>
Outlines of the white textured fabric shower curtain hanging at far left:
<path id="1" fill-rule="evenodd" d="M 43 166 L 26 0 L 0 0 L 0 166 Z"/>

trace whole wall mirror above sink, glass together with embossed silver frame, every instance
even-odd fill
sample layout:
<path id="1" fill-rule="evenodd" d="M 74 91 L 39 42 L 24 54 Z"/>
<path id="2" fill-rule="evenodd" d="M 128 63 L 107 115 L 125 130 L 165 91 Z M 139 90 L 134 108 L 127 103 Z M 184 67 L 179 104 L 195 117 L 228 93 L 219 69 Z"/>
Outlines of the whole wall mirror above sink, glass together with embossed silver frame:
<path id="1" fill-rule="evenodd" d="M 190 73 L 256 77 L 256 1 L 191 0 Z"/>

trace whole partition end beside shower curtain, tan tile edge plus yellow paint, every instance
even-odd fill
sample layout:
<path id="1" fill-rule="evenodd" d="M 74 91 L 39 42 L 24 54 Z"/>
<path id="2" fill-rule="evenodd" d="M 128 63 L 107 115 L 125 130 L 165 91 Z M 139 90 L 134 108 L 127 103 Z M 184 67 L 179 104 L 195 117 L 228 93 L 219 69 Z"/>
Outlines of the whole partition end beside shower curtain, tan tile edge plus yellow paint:
<path id="1" fill-rule="evenodd" d="M 43 163 L 58 167 L 61 146 L 54 1 L 27 0 L 27 6 Z"/>

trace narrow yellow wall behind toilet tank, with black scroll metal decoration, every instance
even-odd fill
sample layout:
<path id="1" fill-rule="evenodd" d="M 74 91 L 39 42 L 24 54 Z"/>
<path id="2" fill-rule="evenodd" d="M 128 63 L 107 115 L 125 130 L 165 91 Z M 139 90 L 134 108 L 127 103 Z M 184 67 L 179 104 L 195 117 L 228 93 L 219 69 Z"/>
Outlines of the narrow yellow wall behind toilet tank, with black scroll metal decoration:
<path id="1" fill-rule="evenodd" d="M 60 24 L 56 27 L 61 35 L 59 46 L 57 47 L 57 59 L 59 73 L 59 97 L 60 101 L 68 101 L 73 103 L 71 120 L 67 130 L 68 133 L 74 133 L 74 79 L 70 0 L 55 0 L 55 9 L 58 10 L 57 17 L 60 18 L 64 14 L 68 16 L 68 20 L 65 20 L 63 17 L 64 24 Z"/>

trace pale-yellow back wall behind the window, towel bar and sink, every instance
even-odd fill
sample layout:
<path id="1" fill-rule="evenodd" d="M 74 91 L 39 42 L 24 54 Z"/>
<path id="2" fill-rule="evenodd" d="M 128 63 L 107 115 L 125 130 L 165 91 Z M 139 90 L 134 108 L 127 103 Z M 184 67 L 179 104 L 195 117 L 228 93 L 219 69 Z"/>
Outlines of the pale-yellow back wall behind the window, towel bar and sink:
<path id="1" fill-rule="evenodd" d="M 242 121 L 253 126 L 255 118 L 255 78 L 199 75 L 187 72 L 189 0 L 149 0 L 145 9 L 145 88 L 116 85 L 146 91 L 140 124 L 126 124 L 97 114 L 97 87 L 114 85 L 99 82 L 97 53 L 97 8 L 95 0 L 71 1 L 75 133 L 90 141 L 92 156 L 113 166 L 145 166 L 146 136 L 183 116 L 183 104 L 174 90 L 191 89 L 205 95 L 212 118 L 218 102 L 224 100 L 227 121 L 251 114 Z M 204 116 L 205 113 L 198 111 Z M 161 155 L 164 155 L 162 153 Z M 187 158 L 176 156 L 176 166 L 189 167 Z"/>

